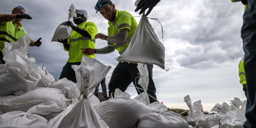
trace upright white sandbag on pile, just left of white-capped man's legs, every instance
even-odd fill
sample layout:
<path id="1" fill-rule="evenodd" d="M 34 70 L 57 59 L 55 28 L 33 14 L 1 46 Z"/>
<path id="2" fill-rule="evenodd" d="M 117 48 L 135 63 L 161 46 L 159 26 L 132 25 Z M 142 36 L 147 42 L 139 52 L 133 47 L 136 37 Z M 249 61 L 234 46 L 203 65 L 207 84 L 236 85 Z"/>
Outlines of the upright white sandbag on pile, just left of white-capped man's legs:
<path id="1" fill-rule="evenodd" d="M 38 67 L 34 71 L 37 71 L 41 75 L 41 80 L 38 82 L 37 87 L 49 87 L 54 82 L 54 76 L 46 68 Z"/>

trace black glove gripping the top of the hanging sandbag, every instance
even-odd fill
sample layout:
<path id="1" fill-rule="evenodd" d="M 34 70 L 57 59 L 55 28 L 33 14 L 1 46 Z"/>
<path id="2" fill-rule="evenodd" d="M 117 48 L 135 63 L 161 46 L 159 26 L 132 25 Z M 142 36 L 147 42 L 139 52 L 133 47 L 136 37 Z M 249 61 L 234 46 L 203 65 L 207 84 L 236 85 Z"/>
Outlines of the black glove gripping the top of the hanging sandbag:
<path id="1" fill-rule="evenodd" d="M 159 2 L 160 0 L 141 0 L 138 5 L 137 5 L 137 8 L 135 10 L 135 12 L 137 12 L 138 10 L 141 9 L 140 13 L 139 14 L 142 14 L 147 8 L 148 11 L 146 13 L 146 16 L 148 14 L 150 14 L 150 12 L 152 11 L 152 9 L 156 6 L 156 4 Z"/>

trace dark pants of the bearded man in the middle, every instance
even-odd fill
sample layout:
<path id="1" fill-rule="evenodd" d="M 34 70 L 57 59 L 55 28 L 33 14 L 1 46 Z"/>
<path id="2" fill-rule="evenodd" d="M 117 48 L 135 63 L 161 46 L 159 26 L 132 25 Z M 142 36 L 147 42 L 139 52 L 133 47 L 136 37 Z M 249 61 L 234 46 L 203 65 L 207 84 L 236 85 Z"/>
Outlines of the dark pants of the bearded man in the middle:
<path id="1" fill-rule="evenodd" d="M 127 63 L 127 62 L 119 62 L 118 65 L 116 66 L 116 68 L 114 69 L 111 79 L 110 79 L 110 83 L 109 83 L 109 95 L 111 93 L 113 93 L 114 96 L 114 91 L 116 88 L 119 88 L 120 90 L 122 90 L 123 92 L 127 89 L 127 87 L 131 84 L 131 82 L 133 82 L 133 85 L 136 86 L 138 88 L 142 88 L 139 84 L 139 78 L 136 79 L 136 77 L 138 77 L 138 73 L 139 70 L 137 68 L 138 64 L 137 63 Z M 147 65 L 147 69 L 148 69 L 148 74 L 149 74 L 149 82 L 148 82 L 148 87 L 147 87 L 147 93 L 151 96 L 153 96 L 156 99 L 156 88 L 155 88 L 155 84 L 154 81 L 152 79 L 152 69 L 153 69 L 153 65 Z M 136 81 L 135 81 L 136 79 Z M 144 92 L 141 89 L 136 89 L 137 93 L 140 94 L 140 92 Z M 155 102 L 156 100 L 154 100 L 152 97 L 149 97 L 150 99 L 150 103 Z"/>

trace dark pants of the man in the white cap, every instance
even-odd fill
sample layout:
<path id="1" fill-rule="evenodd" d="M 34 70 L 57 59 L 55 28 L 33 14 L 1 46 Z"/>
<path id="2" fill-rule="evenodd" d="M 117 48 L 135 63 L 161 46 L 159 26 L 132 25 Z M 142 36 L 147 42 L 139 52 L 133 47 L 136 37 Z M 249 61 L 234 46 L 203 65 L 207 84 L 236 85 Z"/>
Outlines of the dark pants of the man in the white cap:
<path id="1" fill-rule="evenodd" d="M 76 77 L 75 77 L 75 71 L 72 69 L 72 65 L 81 65 L 81 62 L 74 62 L 74 63 L 71 63 L 71 62 L 67 62 L 66 65 L 63 67 L 62 71 L 61 71 L 61 74 L 60 74 L 60 77 L 59 79 L 62 79 L 62 78 L 67 78 L 68 80 L 76 83 Z M 99 98 L 99 85 L 98 84 L 95 88 L 95 96 Z"/>

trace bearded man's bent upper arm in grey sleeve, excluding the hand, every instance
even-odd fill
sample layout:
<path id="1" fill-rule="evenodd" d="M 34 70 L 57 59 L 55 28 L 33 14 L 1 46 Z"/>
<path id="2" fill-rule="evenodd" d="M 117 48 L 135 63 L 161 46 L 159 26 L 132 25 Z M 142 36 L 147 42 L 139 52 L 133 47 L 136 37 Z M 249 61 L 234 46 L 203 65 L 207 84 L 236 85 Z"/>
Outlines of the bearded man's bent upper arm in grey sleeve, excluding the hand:
<path id="1" fill-rule="evenodd" d="M 125 28 L 118 31 L 118 34 L 114 36 L 107 36 L 106 40 L 111 43 L 124 43 L 127 39 L 129 29 Z"/>

